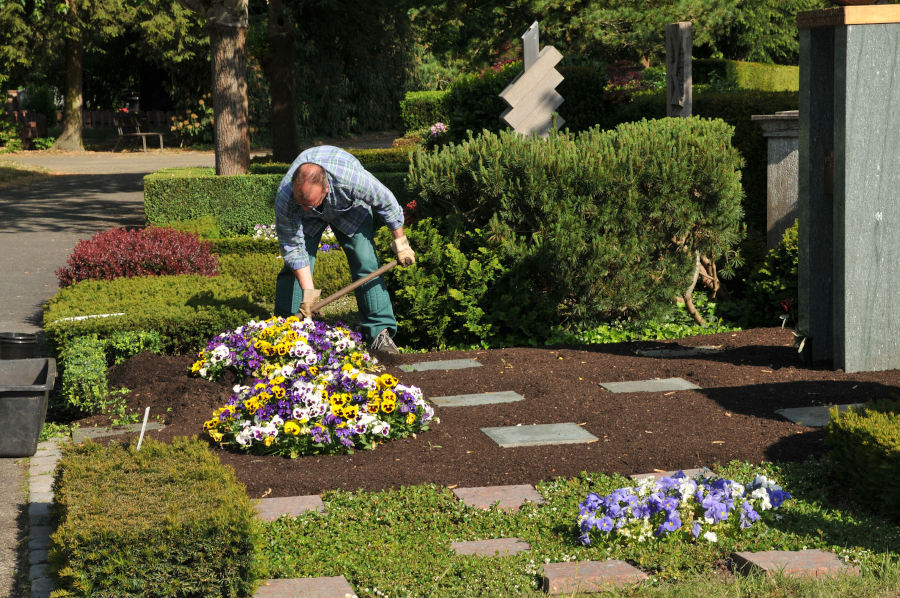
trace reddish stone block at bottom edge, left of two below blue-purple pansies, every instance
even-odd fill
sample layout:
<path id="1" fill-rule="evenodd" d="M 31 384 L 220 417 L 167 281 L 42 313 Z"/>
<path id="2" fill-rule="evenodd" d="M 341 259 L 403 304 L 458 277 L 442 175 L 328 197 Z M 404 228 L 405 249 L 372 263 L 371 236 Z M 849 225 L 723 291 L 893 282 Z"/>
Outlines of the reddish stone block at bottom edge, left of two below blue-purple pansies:
<path id="1" fill-rule="evenodd" d="M 574 561 L 544 565 L 544 591 L 551 595 L 602 592 L 637 584 L 647 574 L 625 561 Z"/>

